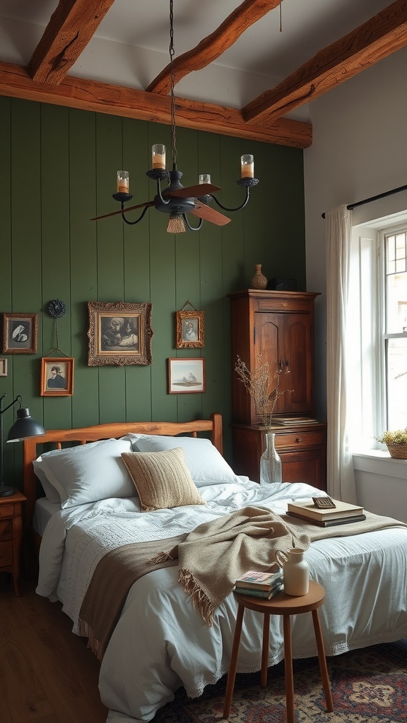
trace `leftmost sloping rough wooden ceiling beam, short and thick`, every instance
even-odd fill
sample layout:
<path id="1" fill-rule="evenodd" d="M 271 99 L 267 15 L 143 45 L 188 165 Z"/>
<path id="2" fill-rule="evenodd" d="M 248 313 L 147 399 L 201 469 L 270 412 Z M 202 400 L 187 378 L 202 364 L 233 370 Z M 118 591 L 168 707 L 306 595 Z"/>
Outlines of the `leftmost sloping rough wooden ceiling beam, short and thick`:
<path id="1" fill-rule="evenodd" d="M 58 85 L 88 45 L 114 0 L 59 0 L 28 64 L 33 80 Z"/>

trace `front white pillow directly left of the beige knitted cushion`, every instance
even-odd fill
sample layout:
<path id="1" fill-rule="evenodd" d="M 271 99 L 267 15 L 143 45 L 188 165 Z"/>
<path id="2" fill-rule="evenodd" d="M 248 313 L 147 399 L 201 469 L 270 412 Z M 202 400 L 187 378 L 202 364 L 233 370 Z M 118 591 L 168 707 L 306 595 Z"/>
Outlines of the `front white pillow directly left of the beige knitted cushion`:
<path id="1" fill-rule="evenodd" d="M 54 501 L 60 500 L 62 508 L 67 508 L 109 497 L 135 497 L 132 479 L 121 456 L 122 452 L 131 451 L 128 437 L 100 440 L 51 450 L 38 457 L 33 466 L 46 497 L 50 501 L 51 497 Z M 55 491 L 59 500 L 55 500 Z"/>

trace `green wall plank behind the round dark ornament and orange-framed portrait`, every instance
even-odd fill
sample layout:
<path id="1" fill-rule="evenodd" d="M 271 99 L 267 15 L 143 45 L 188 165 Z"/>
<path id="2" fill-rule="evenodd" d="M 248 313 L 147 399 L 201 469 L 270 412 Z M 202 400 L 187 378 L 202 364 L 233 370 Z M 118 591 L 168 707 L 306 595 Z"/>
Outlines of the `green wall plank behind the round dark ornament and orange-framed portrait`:
<path id="1" fill-rule="evenodd" d="M 71 353 L 69 316 L 56 322 L 46 310 L 51 299 L 62 299 L 70 308 L 70 168 L 69 111 L 41 103 L 41 250 L 42 309 L 40 356 Z M 58 273 L 56 274 L 56 269 Z M 59 346 L 61 351 L 52 351 Z M 61 353 L 62 352 L 62 353 Z M 51 353 L 51 354 L 50 354 Z M 38 375 L 38 389 L 40 377 Z M 72 427 L 72 399 L 43 398 L 43 424 L 46 429 Z"/>

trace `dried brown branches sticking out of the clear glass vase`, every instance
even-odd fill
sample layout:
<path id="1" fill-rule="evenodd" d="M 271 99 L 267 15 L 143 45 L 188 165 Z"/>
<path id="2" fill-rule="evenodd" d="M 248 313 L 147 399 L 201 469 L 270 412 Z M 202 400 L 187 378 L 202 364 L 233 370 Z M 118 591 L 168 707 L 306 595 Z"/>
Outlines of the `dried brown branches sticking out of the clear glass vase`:
<path id="1" fill-rule="evenodd" d="M 274 374 L 270 372 L 269 362 L 263 361 L 261 354 L 256 354 L 256 365 L 253 372 L 250 372 L 246 363 L 238 356 L 235 364 L 235 372 L 245 385 L 245 389 L 251 395 L 256 406 L 256 414 L 261 416 L 264 429 L 270 429 L 272 416 L 278 399 L 285 392 L 292 391 L 283 389 L 280 391 L 280 376 L 282 367 L 279 367 Z M 288 374 L 288 367 L 285 367 L 285 374 Z M 275 381 L 274 386 L 273 380 Z"/>

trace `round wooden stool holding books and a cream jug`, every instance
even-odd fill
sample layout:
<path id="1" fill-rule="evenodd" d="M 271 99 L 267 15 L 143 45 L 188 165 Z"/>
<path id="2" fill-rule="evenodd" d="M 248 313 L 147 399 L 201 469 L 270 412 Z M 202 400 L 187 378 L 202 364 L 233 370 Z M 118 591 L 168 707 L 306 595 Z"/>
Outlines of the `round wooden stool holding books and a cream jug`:
<path id="1" fill-rule="evenodd" d="M 295 723 L 294 703 L 294 676 L 293 676 L 293 652 L 291 646 L 291 625 L 290 615 L 300 615 L 303 612 L 312 613 L 316 650 L 318 651 L 319 669 L 322 677 L 322 688 L 327 702 L 327 711 L 332 713 L 332 693 L 330 678 L 328 676 L 327 661 L 325 659 L 324 641 L 322 638 L 321 624 L 319 623 L 318 608 L 324 603 L 325 591 L 322 585 L 310 580 L 309 592 L 300 597 L 286 595 L 280 592 L 271 600 L 264 600 L 259 597 L 239 595 L 235 593 L 238 602 L 238 614 L 236 616 L 235 635 L 233 637 L 232 654 L 230 656 L 229 672 L 227 674 L 227 685 L 225 692 L 225 703 L 223 717 L 229 718 L 232 708 L 233 688 L 235 687 L 236 669 L 238 667 L 238 652 L 240 645 L 240 634 L 242 632 L 243 615 L 246 607 L 264 615 L 263 620 L 263 643 L 261 646 L 261 685 L 267 685 L 267 664 L 269 659 L 269 634 L 270 615 L 282 615 L 282 627 L 284 635 L 284 671 L 285 671 L 285 700 L 287 706 L 287 722 Z"/>

